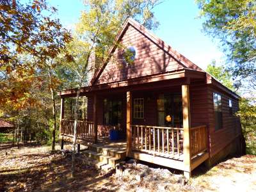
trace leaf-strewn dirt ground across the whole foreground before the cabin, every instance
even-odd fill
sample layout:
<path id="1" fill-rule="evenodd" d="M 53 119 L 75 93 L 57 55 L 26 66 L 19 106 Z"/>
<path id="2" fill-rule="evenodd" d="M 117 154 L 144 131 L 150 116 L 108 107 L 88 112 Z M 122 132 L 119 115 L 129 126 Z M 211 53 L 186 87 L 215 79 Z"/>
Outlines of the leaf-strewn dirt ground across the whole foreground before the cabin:
<path id="1" fill-rule="evenodd" d="M 211 170 L 200 166 L 186 186 L 173 174 L 168 176 L 172 177 L 168 188 L 154 188 L 146 180 L 95 170 L 81 156 L 72 179 L 70 154 L 51 154 L 50 149 L 33 143 L 18 150 L 10 143 L 0 143 L 0 191 L 256 191 L 256 156 L 227 159 Z"/>

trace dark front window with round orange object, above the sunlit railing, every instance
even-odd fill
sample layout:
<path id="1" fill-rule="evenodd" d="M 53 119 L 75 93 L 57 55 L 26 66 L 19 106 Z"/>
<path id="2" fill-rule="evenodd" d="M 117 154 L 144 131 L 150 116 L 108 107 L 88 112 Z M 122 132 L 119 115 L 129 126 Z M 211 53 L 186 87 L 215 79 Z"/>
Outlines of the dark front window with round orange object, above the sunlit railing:
<path id="1" fill-rule="evenodd" d="M 182 97 L 180 94 L 159 94 L 157 125 L 182 127 Z"/>

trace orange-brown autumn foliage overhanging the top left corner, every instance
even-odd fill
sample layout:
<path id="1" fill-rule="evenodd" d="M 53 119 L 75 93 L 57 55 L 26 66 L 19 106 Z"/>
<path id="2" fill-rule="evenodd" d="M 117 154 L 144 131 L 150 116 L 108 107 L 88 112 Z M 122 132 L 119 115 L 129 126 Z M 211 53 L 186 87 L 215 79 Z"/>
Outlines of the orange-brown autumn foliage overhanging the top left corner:
<path id="1" fill-rule="evenodd" d="M 0 1 L 0 105 L 29 98 L 31 83 L 40 83 L 35 71 L 70 41 L 59 20 L 51 19 L 54 12 L 44 0 Z"/>

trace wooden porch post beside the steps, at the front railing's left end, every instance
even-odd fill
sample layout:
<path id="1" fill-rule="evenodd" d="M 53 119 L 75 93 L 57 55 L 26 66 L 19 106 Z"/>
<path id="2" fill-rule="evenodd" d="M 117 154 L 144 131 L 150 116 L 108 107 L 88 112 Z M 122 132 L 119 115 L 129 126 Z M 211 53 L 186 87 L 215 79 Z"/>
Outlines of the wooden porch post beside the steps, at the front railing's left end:
<path id="1" fill-rule="evenodd" d="M 127 155 L 131 152 L 131 111 L 132 111 L 132 94 L 126 92 L 126 139 L 127 139 Z"/>

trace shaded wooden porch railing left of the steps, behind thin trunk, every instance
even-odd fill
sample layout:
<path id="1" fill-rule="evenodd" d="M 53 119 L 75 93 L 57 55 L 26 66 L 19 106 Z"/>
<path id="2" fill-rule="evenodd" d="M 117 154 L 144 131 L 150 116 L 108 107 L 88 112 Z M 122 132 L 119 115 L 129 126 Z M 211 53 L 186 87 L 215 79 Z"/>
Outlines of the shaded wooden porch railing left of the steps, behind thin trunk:
<path id="1" fill-rule="evenodd" d="M 74 135 L 74 120 L 61 120 L 61 134 L 68 136 Z M 94 134 L 93 122 L 77 120 L 77 138 L 93 140 Z"/>

